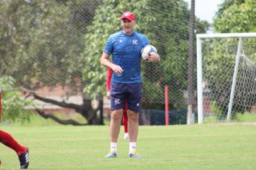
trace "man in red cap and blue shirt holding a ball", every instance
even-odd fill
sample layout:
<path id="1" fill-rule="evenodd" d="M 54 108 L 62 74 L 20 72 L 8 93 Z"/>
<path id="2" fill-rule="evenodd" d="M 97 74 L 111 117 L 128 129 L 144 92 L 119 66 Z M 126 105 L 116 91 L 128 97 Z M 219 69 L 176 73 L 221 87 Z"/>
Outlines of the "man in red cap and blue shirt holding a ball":
<path id="1" fill-rule="evenodd" d="M 143 34 L 134 31 L 136 18 L 130 11 L 121 16 L 123 30 L 108 37 L 100 63 L 113 71 L 111 82 L 110 152 L 105 157 L 117 157 L 119 137 L 125 100 L 128 104 L 129 156 L 141 158 L 136 152 L 139 111 L 141 111 L 141 49 L 149 45 Z M 112 54 L 112 61 L 108 58 Z M 158 62 L 155 52 L 147 55 L 151 62 Z"/>

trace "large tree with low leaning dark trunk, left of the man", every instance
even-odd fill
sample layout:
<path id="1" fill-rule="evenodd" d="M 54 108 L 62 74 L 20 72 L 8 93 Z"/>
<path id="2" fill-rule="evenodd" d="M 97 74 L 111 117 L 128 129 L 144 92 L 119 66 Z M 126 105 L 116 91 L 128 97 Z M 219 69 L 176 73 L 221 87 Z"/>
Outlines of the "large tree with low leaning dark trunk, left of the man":
<path id="1" fill-rule="evenodd" d="M 83 94 L 85 86 L 81 68 L 86 65 L 79 54 L 84 48 L 83 36 L 96 6 L 101 1 L 1 1 L 1 74 L 11 75 L 15 86 L 28 89 L 35 99 L 73 108 L 88 124 L 98 124 L 91 99 Z M 57 68 L 57 69 L 56 69 Z M 82 105 L 45 98 L 37 89 L 55 86 L 69 87 L 66 96 L 79 94 Z M 44 111 L 37 110 L 46 117 Z M 73 121 L 59 123 L 79 125 Z"/>

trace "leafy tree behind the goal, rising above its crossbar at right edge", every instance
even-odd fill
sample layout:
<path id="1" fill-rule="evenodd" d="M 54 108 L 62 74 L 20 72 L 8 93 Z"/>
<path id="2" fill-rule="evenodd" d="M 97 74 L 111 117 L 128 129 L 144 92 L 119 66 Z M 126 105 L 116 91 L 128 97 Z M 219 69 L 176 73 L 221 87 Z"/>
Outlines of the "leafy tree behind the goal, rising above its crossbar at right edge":
<path id="1" fill-rule="evenodd" d="M 241 32 L 255 32 L 256 31 L 256 1 L 253 0 L 226 0 L 223 4 L 219 6 L 219 11 L 216 13 L 214 18 L 214 31 L 216 33 L 241 33 Z M 204 49 L 207 52 L 204 62 L 209 62 L 209 65 L 203 70 L 207 72 L 212 72 L 207 78 L 211 76 L 218 77 L 214 81 L 207 82 L 208 86 L 211 87 L 212 93 L 216 94 L 211 98 L 212 110 L 216 110 L 220 116 L 226 116 L 228 112 L 228 102 L 230 98 L 231 90 L 231 79 L 233 76 L 233 69 L 223 72 L 219 72 L 218 64 L 223 63 L 225 65 L 235 65 L 234 55 L 231 55 L 231 47 L 237 47 L 237 40 L 216 40 L 212 42 L 212 48 L 209 46 Z M 247 44 L 255 44 L 255 40 L 248 40 Z M 243 50 L 247 52 L 252 46 L 244 45 Z M 253 47 L 255 48 L 255 47 Z M 233 49 L 235 50 L 235 49 Z M 226 53 L 224 53 L 226 52 Z M 235 53 L 233 51 L 233 53 Z M 212 59 L 214 56 L 214 59 Z M 250 55 L 252 59 L 255 58 L 255 54 Z M 245 61 L 241 60 L 240 64 L 246 65 Z M 204 67 L 204 66 L 203 66 Z M 240 66 L 241 67 L 241 66 Z M 239 67 L 239 68 L 240 68 Z M 247 70 L 248 71 L 248 70 Z M 253 89 L 250 86 L 244 86 L 244 82 L 248 79 L 253 79 L 253 73 L 247 73 L 249 76 L 244 77 L 238 74 L 236 84 L 236 93 L 233 104 L 233 116 L 236 113 L 244 113 L 249 111 L 253 105 L 253 98 L 255 99 L 255 92 L 253 94 Z M 222 86 L 223 82 L 226 82 L 227 86 Z M 240 84 L 239 84 L 240 83 Z M 246 95 L 245 95 L 246 94 Z M 253 96 L 254 95 L 254 96 Z M 247 103 L 246 106 L 241 104 L 236 104 L 235 101 L 244 101 Z M 255 101 L 255 100 L 254 100 Z"/>

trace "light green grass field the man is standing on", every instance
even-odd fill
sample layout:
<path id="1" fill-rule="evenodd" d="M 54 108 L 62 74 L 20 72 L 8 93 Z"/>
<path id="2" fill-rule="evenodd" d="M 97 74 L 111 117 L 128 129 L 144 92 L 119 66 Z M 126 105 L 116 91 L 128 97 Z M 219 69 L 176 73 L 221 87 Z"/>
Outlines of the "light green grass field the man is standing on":
<path id="1" fill-rule="evenodd" d="M 253 123 L 141 126 L 137 151 L 118 143 L 118 157 L 107 159 L 108 126 L 3 126 L 30 149 L 29 169 L 256 169 Z M 19 169 L 15 152 L 0 145 L 0 169 Z"/>

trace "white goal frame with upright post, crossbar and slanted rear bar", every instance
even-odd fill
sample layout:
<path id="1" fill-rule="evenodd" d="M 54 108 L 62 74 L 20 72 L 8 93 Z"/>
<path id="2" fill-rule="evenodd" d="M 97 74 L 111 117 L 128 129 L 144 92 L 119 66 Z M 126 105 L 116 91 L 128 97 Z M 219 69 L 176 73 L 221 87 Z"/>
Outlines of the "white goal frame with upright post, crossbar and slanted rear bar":
<path id="1" fill-rule="evenodd" d="M 211 34 L 197 34 L 197 109 L 198 109 L 198 123 L 199 124 L 201 124 L 203 122 L 203 112 L 204 112 L 204 108 L 203 108 L 203 102 L 204 102 L 203 93 L 205 93 L 205 91 L 210 91 L 210 92 L 212 91 L 211 88 L 205 89 L 203 87 L 203 84 L 204 83 L 207 84 L 208 82 L 204 81 L 202 74 L 203 74 L 203 72 L 208 72 L 209 69 L 211 69 L 211 67 L 214 67 L 214 68 L 218 67 L 218 64 L 216 64 L 216 65 L 209 64 L 209 66 L 207 67 L 206 70 L 202 69 L 204 67 L 204 65 L 202 64 L 202 60 L 203 60 L 203 57 L 204 57 L 204 54 L 202 54 L 202 50 L 210 50 L 211 49 L 211 47 L 202 47 L 202 43 L 205 43 L 207 40 L 212 40 L 212 39 L 216 39 L 216 38 L 219 38 L 218 39 L 219 42 L 221 42 L 220 40 L 224 40 L 224 39 L 228 39 L 228 38 L 231 38 L 231 39 L 233 38 L 233 39 L 235 39 L 237 41 L 236 48 L 233 48 L 233 51 L 236 52 L 236 54 L 234 56 L 234 63 L 231 64 L 232 66 L 229 66 L 229 67 L 232 67 L 232 69 L 230 69 L 230 70 L 232 70 L 233 76 L 232 76 L 232 81 L 230 81 L 231 87 L 229 87 L 229 89 L 231 89 L 231 91 L 230 91 L 230 94 L 228 94 L 229 95 L 228 96 L 229 103 L 228 103 L 228 111 L 226 113 L 226 115 L 227 115 L 226 116 L 226 120 L 230 120 L 231 110 L 232 110 L 232 105 L 233 105 L 233 99 L 234 99 L 234 93 L 235 93 L 235 88 L 236 88 L 236 79 L 237 79 L 236 76 L 237 76 L 237 72 L 238 72 L 238 64 L 239 64 L 239 61 L 240 61 L 240 56 L 244 54 L 243 48 L 242 48 L 243 39 L 244 38 L 247 38 L 247 39 L 248 38 L 255 38 L 256 39 L 256 33 L 211 33 Z M 235 44 L 235 43 L 233 43 L 233 44 Z M 253 45 L 255 45 L 255 43 L 253 43 Z M 221 47 L 221 46 L 219 46 L 219 47 Z M 256 45 L 253 46 L 253 48 L 254 47 L 256 47 Z M 223 53 L 227 52 L 228 53 L 228 50 L 229 50 L 228 47 L 223 47 L 222 51 L 219 50 L 220 51 L 219 54 L 221 52 L 223 52 Z M 216 53 L 218 53 L 218 52 L 216 52 Z M 246 51 L 245 51 L 245 53 L 246 53 Z M 255 62 L 256 50 L 253 51 L 253 53 L 251 53 L 251 54 L 253 54 L 253 63 L 254 63 Z M 211 56 L 211 55 L 208 55 L 208 56 Z M 245 57 L 245 58 L 247 58 L 247 57 Z M 219 71 L 221 71 L 223 68 L 227 67 L 226 65 L 224 65 L 225 64 L 224 62 L 222 62 L 222 63 L 223 63 L 223 66 L 221 66 L 219 68 Z M 256 73 L 255 70 L 254 70 L 255 69 L 255 64 L 253 64 L 252 67 L 253 67 L 253 74 L 254 74 L 254 73 Z M 218 72 L 218 71 L 215 71 L 215 72 Z M 223 74 L 225 74 L 225 73 L 223 73 Z M 251 72 L 249 74 L 251 74 Z M 213 77 L 213 76 L 209 76 L 209 77 Z M 255 75 L 253 77 L 255 77 Z M 250 84 L 250 86 L 252 86 L 252 88 L 255 88 L 254 84 L 256 82 L 256 78 L 253 78 L 253 79 L 254 80 L 251 83 L 253 85 Z M 221 84 L 221 83 L 219 83 L 219 84 Z M 228 84 L 228 85 L 230 85 L 230 84 Z M 228 85 L 225 84 L 223 86 L 228 86 Z M 253 94 L 255 94 L 255 89 L 252 89 L 252 91 L 253 91 Z M 211 99 L 209 99 L 209 100 L 211 101 Z M 255 103 L 255 100 L 254 100 L 254 97 L 253 97 L 253 104 L 254 103 Z"/>

